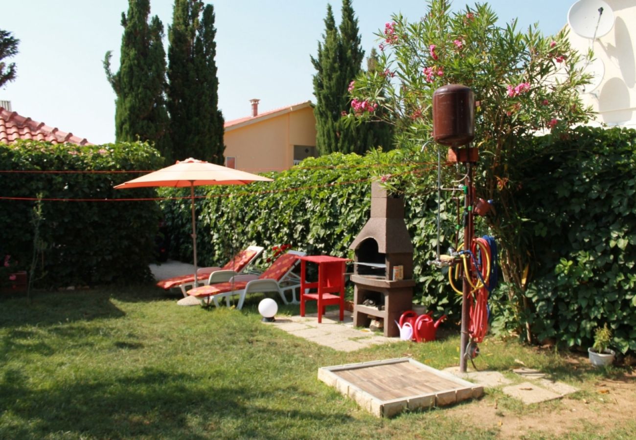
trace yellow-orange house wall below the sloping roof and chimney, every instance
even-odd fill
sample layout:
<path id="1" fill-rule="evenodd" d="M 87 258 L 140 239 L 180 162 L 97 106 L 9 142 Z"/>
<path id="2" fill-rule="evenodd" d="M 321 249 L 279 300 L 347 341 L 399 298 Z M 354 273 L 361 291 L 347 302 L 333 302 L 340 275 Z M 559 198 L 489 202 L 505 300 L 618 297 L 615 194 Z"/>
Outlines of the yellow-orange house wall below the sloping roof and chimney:
<path id="1" fill-rule="evenodd" d="M 225 156 L 236 158 L 236 168 L 248 172 L 291 168 L 294 145 L 315 146 L 314 109 L 305 107 L 241 127 L 226 129 Z"/>

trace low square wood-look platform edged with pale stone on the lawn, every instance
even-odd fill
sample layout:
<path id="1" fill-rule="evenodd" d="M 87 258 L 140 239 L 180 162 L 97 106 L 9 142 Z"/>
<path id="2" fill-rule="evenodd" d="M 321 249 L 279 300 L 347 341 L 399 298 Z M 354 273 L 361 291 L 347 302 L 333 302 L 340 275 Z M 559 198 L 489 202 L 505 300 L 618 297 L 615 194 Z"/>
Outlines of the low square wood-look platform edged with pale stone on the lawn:
<path id="1" fill-rule="evenodd" d="M 409 357 L 318 369 L 318 379 L 364 409 L 390 417 L 404 409 L 446 406 L 483 395 L 483 387 Z"/>

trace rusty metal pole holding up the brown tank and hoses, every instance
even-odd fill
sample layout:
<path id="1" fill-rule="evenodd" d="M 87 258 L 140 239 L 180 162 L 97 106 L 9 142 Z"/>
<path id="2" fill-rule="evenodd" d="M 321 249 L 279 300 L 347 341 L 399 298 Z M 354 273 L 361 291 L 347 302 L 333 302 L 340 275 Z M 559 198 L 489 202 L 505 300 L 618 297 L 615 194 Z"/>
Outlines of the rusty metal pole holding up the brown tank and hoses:
<path id="1" fill-rule="evenodd" d="M 470 149 L 466 148 L 467 158 L 470 158 Z M 467 159 L 468 160 L 468 159 Z M 467 172 L 465 179 L 466 196 L 464 198 L 464 251 L 471 249 L 471 242 L 473 241 L 473 164 L 466 163 Z M 470 268 L 470 263 L 467 265 Z M 466 348 L 468 347 L 469 335 L 468 335 L 468 321 L 470 320 L 470 310 L 468 306 L 468 296 L 471 293 L 471 286 L 468 284 L 468 279 L 471 274 L 464 273 L 464 284 L 462 288 L 462 334 L 460 338 L 459 347 L 459 371 L 460 373 L 466 373 Z"/>

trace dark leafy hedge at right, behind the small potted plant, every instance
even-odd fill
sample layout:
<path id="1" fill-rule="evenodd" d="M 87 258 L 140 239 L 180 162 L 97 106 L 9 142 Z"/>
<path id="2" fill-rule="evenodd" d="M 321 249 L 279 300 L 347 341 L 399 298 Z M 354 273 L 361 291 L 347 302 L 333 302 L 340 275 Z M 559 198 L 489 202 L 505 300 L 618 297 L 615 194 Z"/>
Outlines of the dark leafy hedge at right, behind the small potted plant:
<path id="1" fill-rule="evenodd" d="M 534 243 L 529 316 L 539 340 L 636 350 L 636 131 L 577 128 L 520 154 L 518 200 Z"/>

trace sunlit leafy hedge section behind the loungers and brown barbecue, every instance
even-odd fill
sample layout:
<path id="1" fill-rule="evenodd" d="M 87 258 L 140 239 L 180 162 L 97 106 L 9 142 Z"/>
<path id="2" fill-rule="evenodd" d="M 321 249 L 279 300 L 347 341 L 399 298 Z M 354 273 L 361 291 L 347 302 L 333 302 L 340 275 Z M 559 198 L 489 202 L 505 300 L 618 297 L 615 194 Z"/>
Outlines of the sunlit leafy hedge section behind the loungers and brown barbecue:
<path id="1" fill-rule="evenodd" d="M 273 182 L 195 188 L 201 197 L 196 204 L 199 265 L 223 264 L 236 249 L 251 244 L 268 250 L 291 244 L 309 254 L 352 257 L 349 245 L 370 215 L 371 179 L 411 174 L 421 168 L 404 165 L 403 154 L 397 150 L 372 151 L 366 156 L 334 153 L 270 174 Z M 421 175 L 418 180 L 428 181 L 429 176 Z M 457 295 L 441 282 L 439 270 L 426 264 L 434 258 L 437 239 L 434 183 L 429 187 L 430 191 L 420 193 L 413 186 L 405 198 L 406 224 L 415 247 L 415 300 L 441 306 L 447 313 L 459 312 L 451 307 L 457 304 Z M 188 191 L 162 189 L 160 193 L 183 197 L 165 200 L 162 210 L 170 228 L 172 258 L 191 261 Z M 448 231 L 453 226 L 445 224 Z"/>

